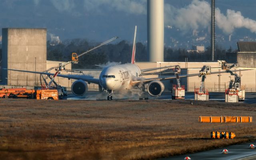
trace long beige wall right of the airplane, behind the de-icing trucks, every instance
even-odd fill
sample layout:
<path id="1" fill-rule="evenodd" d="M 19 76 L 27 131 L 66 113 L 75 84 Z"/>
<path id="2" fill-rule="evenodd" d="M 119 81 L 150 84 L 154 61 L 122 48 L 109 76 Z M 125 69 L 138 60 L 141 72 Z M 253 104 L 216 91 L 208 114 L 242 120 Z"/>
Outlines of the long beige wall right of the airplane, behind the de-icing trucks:
<path id="1" fill-rule="evenodd" d="M 138 62 L 136 63 L 141 69 L 146 68 L 154 68 L 154 67 L 163 67 L 163 66 L 172 66 L 172 65 L 180 65 L 182 69 L 181 74 L 197 74 L 201 70 L 203 65 L 210 65 L 212 67 L 212 72 L 223 71 L 221 70 L 221 66 L 218 62 Z M 239 71 L 244 68 L 234 68 L 233 70 L 237 70 L 237 73 L 241 77 L 241 85 L 246 88 L 247 92 L 256 92 L 256 70 L 248 70 L 248 71 Z M 163 69 L 162 69 L 163 70 Z M 160 72 L 160 70 L 157 70 Z M 155 71 L 152 71 L 155 72 Z M 155 76 L 146 76 L 146 78 L 158 77 L 160 75 Z M 161 76 L 174 76 L 172 74 L 161 75 Z M 231 76 L 229 73 L 222 74 L 212 74 L 208 75 L 205 80 L 205 86 L 210 90 L 210 92 L 224 92 L 225 88 L 228 88 L 229 81 L 233 79 L 234 76 Z M 181 84 L 185 85 L 185 88 L 194 92 L 194 88 L 199 88 L 201 84 L 202 78 L 198 76 L 181 78 Z M 176 84 L 176 79 L 164 81 L 165 90 L 170 90 L 172 84 Z"/>

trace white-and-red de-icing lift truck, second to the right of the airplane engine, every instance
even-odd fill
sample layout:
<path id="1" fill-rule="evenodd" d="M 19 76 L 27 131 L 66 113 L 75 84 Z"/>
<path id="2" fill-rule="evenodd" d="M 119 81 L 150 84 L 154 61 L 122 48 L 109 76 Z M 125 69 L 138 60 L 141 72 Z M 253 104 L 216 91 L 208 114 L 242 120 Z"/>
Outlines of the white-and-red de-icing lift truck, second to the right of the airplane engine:
<path id="1" fill-rule="evenodd" d="M 195 100 L 209 100 L 209 91 L 205 89 L 205 78 L 207 74 L 211 74 L 211 66 L 203 66 L 200 70 L 199 77 L 202 77 L 200 88 L 195 88 Z"/>

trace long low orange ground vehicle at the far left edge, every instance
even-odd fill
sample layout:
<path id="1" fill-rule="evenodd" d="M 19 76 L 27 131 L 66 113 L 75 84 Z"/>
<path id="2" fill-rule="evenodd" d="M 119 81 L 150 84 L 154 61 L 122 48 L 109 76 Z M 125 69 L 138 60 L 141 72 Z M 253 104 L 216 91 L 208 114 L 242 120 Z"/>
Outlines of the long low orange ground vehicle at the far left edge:
<path id="1" fill-rule="evenodd" d="M 0 98 L 28 98 L 58 100 L 58 90 L 27 90 L 26 88 L 3 88 Z"/>

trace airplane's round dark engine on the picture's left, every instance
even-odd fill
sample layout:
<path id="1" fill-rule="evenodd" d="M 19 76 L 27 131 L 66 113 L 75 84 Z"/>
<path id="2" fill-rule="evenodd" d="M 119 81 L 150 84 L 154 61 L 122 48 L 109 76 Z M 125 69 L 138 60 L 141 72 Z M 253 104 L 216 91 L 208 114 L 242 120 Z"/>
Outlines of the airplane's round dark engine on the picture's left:
<path id="1" fill-rule="evenodd" d="M 74 95 L 83 96 L 88 90 L 88 86 L 83 80 L 76 80 L 75 82 L 73 82 L 71 90 Z"/>

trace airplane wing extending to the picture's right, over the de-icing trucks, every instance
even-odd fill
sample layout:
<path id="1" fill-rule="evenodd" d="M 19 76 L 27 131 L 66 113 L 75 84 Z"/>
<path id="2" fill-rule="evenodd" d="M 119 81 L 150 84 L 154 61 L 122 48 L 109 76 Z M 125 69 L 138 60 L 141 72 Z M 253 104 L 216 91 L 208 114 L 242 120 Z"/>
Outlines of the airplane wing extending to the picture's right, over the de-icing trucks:
<path id="1" fill-rule="evenodd" d="M 244 70 L 233 70 L 233 72 L 238 72 L 238 71 L 245 71 L 245 70 L 250 70 L 250 69 L 244 69 Z M 220 72 L 211 72 L 211 74 L 219 74 L 219 73 L 228 73 L 227 71 L 220 71 Z M 196 73 L 196 74 L 184 74 L 184 75 L 179 75 L 179 78 L 183 78 L 183 77 L 192 77 L 192 76 L 199 76 L 200 73 Z M 136 77 L 137 78 L 137 77 Z M 132 86 L 136 86 L 137 84 L 147 84 L 150 83 L 153 80 L 170 80 L 170 79 L 174 79 L 176 78 L 176 76 L 166 76 L 166 77 L 157 77 L 157 78 L 139 78 L 136 79 L 134 81 L 131 82 Z"/>

